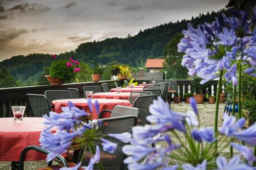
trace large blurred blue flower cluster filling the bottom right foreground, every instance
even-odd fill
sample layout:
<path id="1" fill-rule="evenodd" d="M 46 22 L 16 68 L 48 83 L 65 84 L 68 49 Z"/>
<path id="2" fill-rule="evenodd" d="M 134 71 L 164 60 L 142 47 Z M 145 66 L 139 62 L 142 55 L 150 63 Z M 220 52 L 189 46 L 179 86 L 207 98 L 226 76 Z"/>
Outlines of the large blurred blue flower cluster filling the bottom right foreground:
<path id="1" fill-rule="evenodd" d="M 168 158 L 175 158 L 173 157 L 175 155 L 175 153 L 173 153 L 174 150 L 184 152 L 184 150 L 181 150 L 182 148 L 185 148 L 185 154 L 183 153 L 183 157 L 185 158 L 182 159 L 182 156 L 179 155 L 180 159 L 178 158 L 178 160 L 184 160 L 184 162 L 187 162 L 182 165 L 182 168 L 185 170 L 204 170 L 207 167 L 208 161 L 212 164 L 212 161 L 215 160 L 215 155 L 218 155 L 218 153 L 214 153 L 212 150 L 211 153 L 207 153 L 207 151 L 210 151 L 210 147 L 216 141 L 218 136 L 224 137 L 225 139 L 237 138 L 252 146 L 256 145 L 256 123 L 248 129 L 242 130 L 245 123 L 244 118 L 241 118 L 236 122 L 236 119 L 233 116 L 228 116 L 224 113 L 223 126 L 220 127 L 217 133 L 215 133 L 211 128 L 199 127 L 199 114 L 194 98 L 190 98 L 190 105 L 193 108 L 193 111 L 188 111 L 187 114 L 170 110 L 167 105 L 168 104 L 165 103 L 162 98 L 155 100 L 150 106 L 150 112 L 152 115 L 146 117 L 148 122 L 154 123 L 154 125 L 134 127 L 132 129 L 132 138 L 130 139 L 129 134 L 122 136 L 123 140 L 126 142 L 130 141 L 131 143 L 125 145 L 122 149 L 122 151 L 128 155 L 124 160 L 124 163 L 129 164 L 128 168 L 130 170 L 150 170 L 161 166 L 165 170 L 177 169 L 179 165 L 168 167 Z M 195 128 L 191 130 L 192 127 Z M 189 146 L 184 144 L 184 141 L 180 139 L 180 135 L 177 134 L 177 131 L 180 131 L 185 135 L 187 139 L 186 142 L 189 143 Z M 175 134 L 180 143 L 174 143 L 166 132 Z M 151 144 L 159 141 L 167 142 L 168 146 L 166 148 L 150 147 Z M 203 144 L 203 141 L 206 145 Z M 224 141 L 227 143 L 225 146 L 229 144 L 232 145 L 232 147 L 237 149 L 249 162 L 255 160 L 251 149 L 244 145 L 229 143 L 227 141 L 229 140 Z M 199 151 L 200 145 L 202 147 L 202 151 Z M 205 148 L 203 148 L 204 146 Z M 197 147 L 199 148 L 196 149 Z M 191 160 L 190 158 L 186 158 L 186 155 L 189 154 L 191 154 Z M 205 157 L 201 157 L 199 159 L 196 158 L 197 155 L 204 154 Z M 146 157 L 146 159 L 142 163 L 138 163 L 144 157 Z M 195 162 L 198 163 L 195 164 Z M 216 165 L 218 166 L 218 169 L 233 169 L 233 167 L 236 167 L 234 169 L 254 169 L 249 164 L 241 162 L 239 156 L 234 156 L 229 162 L 227 162 L 226 158 L 219 156 L 217 158 Z"/>

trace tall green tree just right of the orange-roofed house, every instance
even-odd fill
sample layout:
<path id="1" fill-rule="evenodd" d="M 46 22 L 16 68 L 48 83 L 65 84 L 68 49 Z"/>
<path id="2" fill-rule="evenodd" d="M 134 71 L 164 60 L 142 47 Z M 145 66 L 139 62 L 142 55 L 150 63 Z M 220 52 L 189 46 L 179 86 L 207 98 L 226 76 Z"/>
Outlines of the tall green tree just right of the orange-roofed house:
<path id="1" fill-rule="evenodd" d="M 167 71 L 167 79 L 187 79 L 187 69 L 182 67 L 183 53 L 178 52 L 177 44 L 183 38 L 182 33 L 177 33 L 164 47 L 164 69 Z"/>

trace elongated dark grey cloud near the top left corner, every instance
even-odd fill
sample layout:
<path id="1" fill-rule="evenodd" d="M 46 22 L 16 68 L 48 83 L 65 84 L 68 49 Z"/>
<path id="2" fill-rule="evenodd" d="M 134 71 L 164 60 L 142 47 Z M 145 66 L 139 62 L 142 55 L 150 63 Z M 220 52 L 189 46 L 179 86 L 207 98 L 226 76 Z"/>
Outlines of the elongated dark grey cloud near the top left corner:
<path id="1" fill-rule="evenodd" d="M 10 11 L 15 11 L 18 13 L 41 13 L 49 11 L 50 8 L 41 4 L 19 4 L 9 9 Z"/>

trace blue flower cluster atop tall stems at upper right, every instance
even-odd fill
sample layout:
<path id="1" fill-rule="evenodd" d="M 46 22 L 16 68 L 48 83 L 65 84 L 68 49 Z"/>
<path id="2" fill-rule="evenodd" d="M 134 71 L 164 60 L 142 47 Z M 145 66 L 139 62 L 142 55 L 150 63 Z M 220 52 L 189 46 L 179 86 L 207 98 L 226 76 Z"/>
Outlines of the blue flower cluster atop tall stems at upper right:
<path id="1" fill-rule="evenodd" d="M 184 38 L 178 44 L 178 51 L 185 52 L 182 65 L 188 74 L 197 74 L 202 84 L 219 77 L 219 70 L 225 70 L 224 77 L 233 85 L 238 84 L 237 67 L 247 64 L 246 74 L 256 77 L 256 6 L 254 16 L 233 11 L 231 17 L 221 14 L 212 23 L 199 25 L 197 29 L 189 23 L 183 30 Z"/>

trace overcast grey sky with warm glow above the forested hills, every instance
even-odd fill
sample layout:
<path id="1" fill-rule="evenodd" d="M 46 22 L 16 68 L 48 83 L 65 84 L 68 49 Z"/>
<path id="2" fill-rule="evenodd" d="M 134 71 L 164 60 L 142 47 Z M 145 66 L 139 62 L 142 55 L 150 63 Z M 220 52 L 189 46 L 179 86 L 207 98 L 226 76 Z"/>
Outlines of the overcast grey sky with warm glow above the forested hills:
<path id="1" fill-rule="evenodd" d="M 224 8 L 228 0 L 0 0 L 0 61 L 58 54 Z"/>

